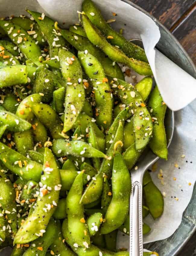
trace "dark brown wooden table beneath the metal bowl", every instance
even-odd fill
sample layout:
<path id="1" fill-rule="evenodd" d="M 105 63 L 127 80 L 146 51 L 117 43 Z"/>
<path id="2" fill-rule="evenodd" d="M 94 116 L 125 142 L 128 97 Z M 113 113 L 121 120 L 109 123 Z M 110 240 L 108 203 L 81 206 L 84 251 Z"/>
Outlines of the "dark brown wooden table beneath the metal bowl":
<path id="1" fill-rule="evenodd" d="M 196 65 L 196 0 L 131 0 L 168 28 Z M 196 233 L 178 256 L 196 256 Z"/>

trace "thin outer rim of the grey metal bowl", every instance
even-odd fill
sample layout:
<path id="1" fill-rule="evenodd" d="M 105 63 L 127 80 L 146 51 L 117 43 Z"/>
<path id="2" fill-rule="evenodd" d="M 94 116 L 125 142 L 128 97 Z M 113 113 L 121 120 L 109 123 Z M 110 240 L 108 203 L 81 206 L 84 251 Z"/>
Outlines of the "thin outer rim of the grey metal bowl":
<path id="1" fill-rule="evenodd" d="M 186 50 L 182 47 L 182 45 L 180 44 L 180 42 L 175 38 L 175 36 L 169 31 L 168 28 L 166 28 L 160 21 L 158 21 L 153 15 L 151 15 L 149 12 L 147 12 L 146 10 L 144 10 L 143 8 L 141 8 L 140 6 L 136 5 L 135 3 L 131 2 L 131 0 L 121 0 L 122 2 L 125 2 L 133 7 L 135 7 L 136 9 L 138 9 L 139 11 L 143 12 L 144 14 L 146 14 L 147 16 L 149 16 L 157 25 L 159 25 L 159 27 L 161 27 L 163 30 L 165 30 L 166 33 L 169 33 L 172 40 L 176 43 L 176 45 L 178 45 L 178 47 L 182 50 L 183 54 L 186 56 L 188 62 L 190 63 L 190 65 L 192 66 L 195 74 L 196 74 L 196 65 L 194 64 L 194 62 L 192 61 L 191 57 L 188 55 L 188 53 L 186 52 Z M 195 77 L 196 78 L 196 75 Z M 194 193 L 194 190 L 193 190 Z M 190 204 L 190 202 L 189 202 Z M 189 205 L 188 204 L 188 205 Z M 188 207 L 188 206 L 187 206 Z M 186 208 L 187 209 L 187 208 Z M 185 210 L 186 210 L 185 209 Z M 182 222 L 181 222 L 182 223 Z M 181 224 L 180 224 L 181 225 Z M 176 231 L 175 231 L 176 232 Z M 174 232 L 174 233 L 175 233 Z M 193 236 L 193 234 L 196 232 L 196 225 L 194 226 L 194 228 L 191 230 L 190 235 L 177 247 L 177 250 L 175 251 L 174 254 L 170 255 L 170 256 L 175 256 L 177 255 L 182 248 L 185 246 L 185 244 L 189 241 L 189 239 Z"/>

